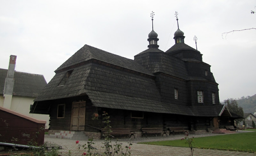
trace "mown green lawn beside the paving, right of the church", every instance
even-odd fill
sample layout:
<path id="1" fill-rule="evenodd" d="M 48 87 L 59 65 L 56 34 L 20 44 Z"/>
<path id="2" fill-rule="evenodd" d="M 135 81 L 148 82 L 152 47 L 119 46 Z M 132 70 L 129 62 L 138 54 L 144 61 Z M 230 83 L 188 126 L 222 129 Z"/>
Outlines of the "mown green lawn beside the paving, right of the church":
<path id="1" fill-rule="evenodd" d="M 227 134 L 227 135 L 194 138 L 192 145 L 195 148 L 255 153 L 256 152 L 255 140 L 256 140 L 255 132 L 246 132 L 246 133 L 235 133 L 235 134 Z M 141 144 L 188 147 L 188 145 L 185 144 L 185 142 L 186 140 L 179 139 L 179 140 L 168 140 L 168 141 L 143 142 Z"/>

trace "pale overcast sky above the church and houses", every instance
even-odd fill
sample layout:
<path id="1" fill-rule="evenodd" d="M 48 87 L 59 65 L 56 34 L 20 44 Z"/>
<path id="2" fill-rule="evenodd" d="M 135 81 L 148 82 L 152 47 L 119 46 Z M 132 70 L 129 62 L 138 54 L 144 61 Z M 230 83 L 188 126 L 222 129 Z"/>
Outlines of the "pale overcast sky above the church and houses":
<path id="1" fill-rule="evenodd" d="M 129 59 L 146 50 L 154 30 L 162 51 L 174 45 L 175 11 L 185 43 L 203 54 L 219 83 L 220 101 L 256 94 L 256 2 L 213 1 L 55 1 L 0 0 L 0 68 L 17 55 L 16 71 L 56 70 L 85 44 Z"/>

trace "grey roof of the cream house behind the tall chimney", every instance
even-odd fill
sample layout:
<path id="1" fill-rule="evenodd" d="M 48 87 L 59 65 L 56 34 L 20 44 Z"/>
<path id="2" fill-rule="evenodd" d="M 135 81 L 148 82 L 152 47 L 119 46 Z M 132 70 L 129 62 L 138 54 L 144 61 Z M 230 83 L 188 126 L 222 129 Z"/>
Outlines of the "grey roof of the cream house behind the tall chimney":
<path id="1" fill-rule="evenodd" d="M 0 68 L 0 95 L 3 95 L 4 93 L 4 84 L 7 72 L 7 69 Z M 46 84 L 47 82 L 44 79 L 44 75 L 15 71 L 13 95 L 36 97 Z"/>

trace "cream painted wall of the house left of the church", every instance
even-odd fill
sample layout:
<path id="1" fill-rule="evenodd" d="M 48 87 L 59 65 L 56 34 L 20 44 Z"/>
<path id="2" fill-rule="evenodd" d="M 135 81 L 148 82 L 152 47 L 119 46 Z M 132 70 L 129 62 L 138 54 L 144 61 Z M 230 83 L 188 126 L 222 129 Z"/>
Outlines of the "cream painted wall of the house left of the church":
<path id="1" fill-rule="evenodd" d="M 12 96 L 12 104 L 11 110 L 17 111 L 21 114 L 27 115 L 29 117 L 34 117 L 39 120 L 45 120 L 45 128 L 49 128 L 49 115 L 43 114 L 29 114 L 30 111 L 30 104 L 33 104 L 33 100 L 35 97 L 25 97 L 25 96 Z M 4 97 L 0 96 L 0 106 L 4 105 Z"/>

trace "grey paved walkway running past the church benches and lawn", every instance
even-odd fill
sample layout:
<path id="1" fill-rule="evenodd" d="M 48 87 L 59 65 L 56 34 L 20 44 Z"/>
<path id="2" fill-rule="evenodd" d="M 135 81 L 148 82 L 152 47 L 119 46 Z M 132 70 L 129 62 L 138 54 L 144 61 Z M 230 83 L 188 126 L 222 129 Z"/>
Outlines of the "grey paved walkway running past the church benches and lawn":
<path id="1" fill-rule="evenodd" d="M 238 131 L 238 132 L 247 132 L 247 131 Z M 197 137 L 205 137 L 205 136 L 214 136 L 214 135 L 225 135 L 225 134 L 190 134 L 189 136 Z M 149 142 L 149 141 L 160 141 L 160 140 L 176 140 L 184 138 L 184 135 L 175 135 L 175 136 L 164 136 L 164 137 L 148 137 L 148 138 L 135 138 L 132 139 L 131 151 L 134 156 L 148 156 L 148 155 L 189 155 L 190 148 L 187 147 L 171 147 L 171 146 L 159 146 L 159 145 L 147 145 L 147 144 L 137 144 L 138 142 Z M 72 156 L 81 156 L 84 152 L 86 152 L 82 147 L 78 149 L 76 145 L 76 140 L 73 139 L 59 139 L 59 138 L 50 138 L 44 137 L 44 141 L 48 143 L 62 145 L 62 149 L 60 149 L 62 156 L 67 156 L 68 151 L 70 151 Z M 88 140 L 79 140 L 79 144 L 84 145 Z M 112 140 L 115 141 L 114 139 Z M 123 143 L 123 147 L 127 145 L 130 139 L 121 139 Z M 102 152 L 102 143 L 104 140 L 93 140 L 95 143 L 93 146 L 98 149 L 98 152 Z M 236 152 L 236 151 L 224 151 L 224 150 L 211 150 L 211 149 L 194 149 L 195 156 L 205 156 L 205 155 L 221 155 L 221 156 L 249 156 L 254 155 L 256 153 L 248 153 L 248 152 Z"/>

